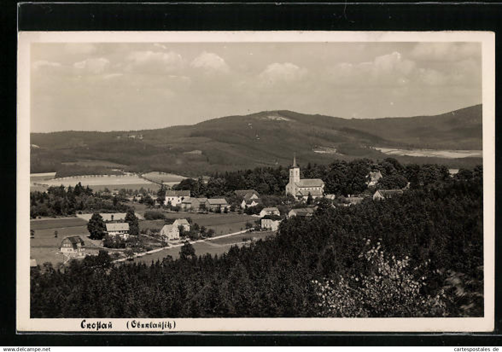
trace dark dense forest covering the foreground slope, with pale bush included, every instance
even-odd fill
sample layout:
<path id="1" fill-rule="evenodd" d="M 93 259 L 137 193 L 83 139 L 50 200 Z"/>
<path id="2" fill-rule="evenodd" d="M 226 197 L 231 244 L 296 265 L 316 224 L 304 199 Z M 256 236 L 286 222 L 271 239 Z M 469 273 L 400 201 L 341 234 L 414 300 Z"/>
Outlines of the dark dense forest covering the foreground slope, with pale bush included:
<path id="1" fill-rule="evenodd" d="M 31 317 L 482 316 L 482 168 L 429 173 L 392 199 L 321 201 L 219 257 L 186 244 L 152 265 L 101 252 L 32 268 Z"/>

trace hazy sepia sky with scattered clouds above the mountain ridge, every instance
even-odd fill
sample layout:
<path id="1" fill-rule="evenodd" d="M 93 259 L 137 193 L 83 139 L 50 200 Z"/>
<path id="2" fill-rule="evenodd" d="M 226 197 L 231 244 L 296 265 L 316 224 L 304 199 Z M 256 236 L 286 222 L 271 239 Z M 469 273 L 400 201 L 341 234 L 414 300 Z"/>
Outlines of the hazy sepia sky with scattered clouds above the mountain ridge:
<path id="1" fill-rule="evenodd" d="M 34 43 L 31 131 L 139 130 L 264 110 L 346 118 L 481 103 L 479 43 Z"/>

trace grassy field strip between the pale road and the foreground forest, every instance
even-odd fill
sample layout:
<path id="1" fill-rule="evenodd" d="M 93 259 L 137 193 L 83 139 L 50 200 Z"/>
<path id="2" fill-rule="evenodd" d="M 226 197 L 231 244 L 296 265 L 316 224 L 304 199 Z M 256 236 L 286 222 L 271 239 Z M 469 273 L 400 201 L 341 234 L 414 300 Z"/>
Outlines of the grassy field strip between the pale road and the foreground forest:
<path id="1" fill-rule="evenodd" d="M 204 255 L 204 254 L 211 254 L 211 255 L 222 255 L 223 253 L 226 253 L 232 246 L 243 246 L 245 243 L 250 243 L 250 242 L 243 242 L 243 239 L 253 239 L 254 241 L 258 241 L 260 239 L 266 239 L 269 236 L 274 235 L 274 232 L 267 231 L 267 232 L 246 232 L 243 234 L 238 234 L 234 236 L 228 236 L 224 238 L 219 238 L 215 240 L 210 240 L 210 241 L 201 241 L 201 242 L 196 242 L 193 243 L 192 246 L 195 249 L 195 254 L 197 256 Z M 173 257 L 173 259 L 177 259 L 180 256 L 180 251 L 181 251 L 181 246 L 179 247 L 174 247 L 174 248 L 168 248 L 164 249 L 162 251 L 152 253 L 152 254 L 147 254 L 143 257 L 135 258 L 134 262 L 136 263 L 141 263 L 144 262 L 146 264 L 150 264 L 152 260 L 155 262 L 157 260 L 162 260 L 164 257 L 170 255 Z M 126 262 L 127 263 L 127 262 Z"/>

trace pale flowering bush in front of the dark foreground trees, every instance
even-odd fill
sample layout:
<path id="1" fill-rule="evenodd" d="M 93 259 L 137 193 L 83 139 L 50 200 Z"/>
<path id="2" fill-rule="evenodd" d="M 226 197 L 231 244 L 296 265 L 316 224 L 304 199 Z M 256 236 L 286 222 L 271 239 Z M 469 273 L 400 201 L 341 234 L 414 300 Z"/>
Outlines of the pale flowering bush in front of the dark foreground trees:
<path id="1" fill-rule="evenodd" d="M 409 317 L 445 316 L 444 291 L 435 296 L 424 293 L 427 277 L 424 262 L 413 267 L 405 257 L 384 253 L 380 242 L 366 240 L 358 260 L 365 262 L 365 273 L 314 280 L 321 316 Z M 430 261 L 430 260 L 429 260 Z"/>

